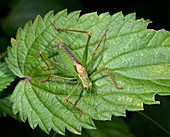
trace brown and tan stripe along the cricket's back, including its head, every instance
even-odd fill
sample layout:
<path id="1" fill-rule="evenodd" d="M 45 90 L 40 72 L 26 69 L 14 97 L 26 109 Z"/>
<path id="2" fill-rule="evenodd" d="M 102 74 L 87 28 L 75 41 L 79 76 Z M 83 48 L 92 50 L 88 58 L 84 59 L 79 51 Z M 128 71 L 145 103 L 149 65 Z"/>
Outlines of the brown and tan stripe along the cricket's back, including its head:
<path id="1" fill-rule="evenodd" d="M 76 68 L 76 72 L 79 76 L 79 78 L 82 81 L 83 87 L 84 88 L 91 88 L 92 83 L 89 80 L 89 77 L 87 75 L 87 71 L 86 69 L 83 67 L 83 65 L 81 65 L 81 63 L 79 63 L 79 61 L 73 56 L 73 54 L 71 53 L 71 51 L 67 48 L 67 46 L 64 44 L 64 42 L 60 43 L 59 48 L 61 48 L 63 50 L 64 53 L 66 53 L 69 58 L 72 60 L 75 68 Z"/>

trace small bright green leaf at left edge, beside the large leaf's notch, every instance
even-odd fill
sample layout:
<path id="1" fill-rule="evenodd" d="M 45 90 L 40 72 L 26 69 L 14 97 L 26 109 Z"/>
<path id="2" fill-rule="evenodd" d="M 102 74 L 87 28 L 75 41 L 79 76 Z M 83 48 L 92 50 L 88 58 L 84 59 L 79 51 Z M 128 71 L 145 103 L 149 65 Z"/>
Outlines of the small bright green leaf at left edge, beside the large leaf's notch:
<path id="1" fill-rule="evenodd" d="M 0 93 L 14 81 L 15 75 L 8 69 L 7 64 L 0 62 Z"/>

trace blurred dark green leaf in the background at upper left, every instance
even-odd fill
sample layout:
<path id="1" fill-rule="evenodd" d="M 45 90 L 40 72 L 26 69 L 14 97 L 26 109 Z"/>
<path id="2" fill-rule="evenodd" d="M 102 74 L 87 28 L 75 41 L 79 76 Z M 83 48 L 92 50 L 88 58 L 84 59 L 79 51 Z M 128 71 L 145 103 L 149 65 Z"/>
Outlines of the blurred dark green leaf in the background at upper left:
<path id="1" fill-rule="evenodd" d="M 43 16 L 49 10 L 57 12 L 65 8 L 76 10 L 81 9 L 82 6 L 78 0 L 57 0 L 57 2 L 56 0 L 20 0 L 10 12 L 5 25 L 7 25 L 9 29 L 16 30 L 16 28 L 23 27 L 25 22 L 34 19 L 37 15 Z"/>

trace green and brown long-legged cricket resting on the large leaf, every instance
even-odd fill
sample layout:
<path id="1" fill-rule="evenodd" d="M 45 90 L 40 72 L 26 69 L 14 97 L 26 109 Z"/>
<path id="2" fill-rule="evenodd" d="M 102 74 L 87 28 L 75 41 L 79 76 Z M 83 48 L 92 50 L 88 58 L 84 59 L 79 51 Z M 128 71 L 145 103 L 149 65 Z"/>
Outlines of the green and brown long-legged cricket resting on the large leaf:
<path id="1" fill-rule="evenodd" d="M 87 57 L 88 57 L 88 46 L 89 46 L 89 42 L 90 39 L 92 37 L 92 33 L 88 32 L 88 31 L 84 31 L 84 30 L 72 30 L 72 29 L 67 29 L 67 28 L 58 28 L 56 26 L 55 23 L 52 22 L 52 25 L 54 26 L 54 28 L 57 31 L 70 31 L 70 32 L 77 32 L 77 33 L 84 33 L 86 35 L 88 35 L 88 40 L 87 40 L 87 44 L 83 53 L 83 57 L 82 57 L 82 62 L 79 62 L 74 55 L 72 54 L 71 49 L 66 46 L 66 44 L 64 42 L 59 42 L 59 43 L 55 43 L 58 46 L 58 54 L 59 56 L 62 58 L 63 63 L 65 64 L 66 68 L 71 72 L 73 79 L 77 79 L 77 81 L 79 80 L 80 82 L 77 82 L 77 85 L 75 86 L 75 88 L 73 88 L 73 90 L 70 92 L 70 94 L 66 97 L 66 102 L 68 102 L 69 104 L 71 104 L 74 108 L 78 109 L 80 111 L 80 117 L 82 116 L 82 109 L 79 108 L 78 106 L 76 106 L 74 103 L 72 103 L 69 100 L 69 97 L 71 96 L 71 94 L 76 90 L 77 86 L 79 84 L 82 84 L 82 87 L 84 89 L 86 89 L 86 91 L 88 91 L 88 89 L 91 89 L 93 84 L 90 81 L 91 76 L 88 75 L 88 69 L 90 69 L 90 65 L 93 64 L 93 60 L 94 57 L 97 53 L 98 48 L 100 47 L 100 44 L 102 43 L 103 39 L 106 37 L 106 34 L 108 32 L 108 28 L 106 28 L 104 34 L 102 35 L 102 37 L 100 38 L 96 49 L 93 52 L 92 58 L 90 60 L 90 62 L 87 64 Z M 50 66 L 48 65 L 47 61 L 45 60 L 45 58 L 43 57 L 43 53 L 41 51 L 38 52 L 38 54 L 40 55 L 42 61 L 45 63 L 45 65 L 47 66 L 47 68 L 45 68 L 45 70 L 50 70 Z M 87 66 L 87 68 L 85 68 L 85 66 Z M 60 69 L 60 68 L 58 68 Z M 61 69 L 60 69 L 61 70 Z M 113 82 L 113 85 L 117 88 L 117 89 L 123 89 L 122 87 L 119 87 L 117 85 L 117 83 L 115 82 L 115 80 L 113 79 L 109 69 L 106 66 L 103 66 L 101 69 L 95 71 L 94 73 L 92 73 L 93 76 L 97 75 L 98 73 L 100 73 L 101 71 L 105 70 L 107 72 L 107 75 L 110 77 L 110 79 Z M 43 80 L 42 82 L 48 82 L 50 80 L 51 77 L 56 77 L 56 78 L 62 78 L 62 79 L 69 79 L 67 77 L 61 77 L 61 76 L 56 76 L 54 74 L 51 74 L 48 76 L 48 78 L 46 80 Z"/>

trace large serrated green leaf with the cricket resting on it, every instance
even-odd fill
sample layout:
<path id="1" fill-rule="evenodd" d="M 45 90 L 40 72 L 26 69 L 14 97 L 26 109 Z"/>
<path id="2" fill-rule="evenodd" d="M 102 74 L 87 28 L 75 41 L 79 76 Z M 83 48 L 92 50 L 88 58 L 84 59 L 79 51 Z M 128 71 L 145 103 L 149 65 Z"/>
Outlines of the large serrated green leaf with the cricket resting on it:
<path id="1" fill-rule="evenodd" d="M 65 129 L 80 134 L 82 127 L 94 129 L 95 120 L 111 120 L 112 115 L 126 116 L 126 110 L 143 110 L 143 104 L 158 104 L 154 95 L 170 95 L 170 33 L 165 30 L 146 29 L 148 21 L 135 19 L 135 14 L 123 16 L 89 13 L 79 16 L 75 11 L 66 10 L 56 15 L 48 12 L 44 18 L 26 23 L 18 29 L 16 39 L 8 48 L 7 63 L 11 71 L 22 80 L 12 94 L 14 113 L 19 113 L 22 121 L 32 128 L 37 125 L 49 133 L 51 129 L 65 134 Z M 70 101 L 79 110 L 66 102 L 66 97 L 76 86 L 76 80 L 51 78 L 41 82 L 50 74 L 61 74 L 56 66 L 64 67 L 57 53 L 55 42 L 64 42 L 82 59 L 88 36 L 78 32 L 57 31 L 59 28 L 78 29 L 92 32 L 89 43 L 88 62 L 101 37 L 108 27 L 94 57 L 91 71 L 103 66 L 109 68 L 114 80 L 123 90 L 117 89 L 106 71 L 91 77 L 92 90 L 83 90 L 82 84 L 70 96 Z M 38 52 L 48 61 L 47 68 Z M 65 71 L 65 69 L 64 69 Z M 89 73 L 89 75 L 91 75 Z"/>

